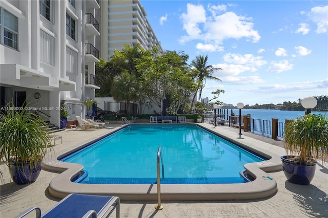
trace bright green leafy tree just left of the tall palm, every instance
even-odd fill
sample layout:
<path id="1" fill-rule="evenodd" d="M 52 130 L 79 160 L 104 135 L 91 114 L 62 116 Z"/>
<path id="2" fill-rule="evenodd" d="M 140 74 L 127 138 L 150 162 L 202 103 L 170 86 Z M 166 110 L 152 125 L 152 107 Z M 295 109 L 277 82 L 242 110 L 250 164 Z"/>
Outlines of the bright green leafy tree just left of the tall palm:
<path id="1" fill-rule="evenodd" d="M 142 56 L 137 68 L 144 81 L 144 93 L 159 107 L 161 100 L 172 96 L 176 112 L 186 99 L 186 93 L 190 95 L 194 90 L 193 77 L 176 52 L 158 55 L 158 48 L 155 47 L 149 55 Z"/>

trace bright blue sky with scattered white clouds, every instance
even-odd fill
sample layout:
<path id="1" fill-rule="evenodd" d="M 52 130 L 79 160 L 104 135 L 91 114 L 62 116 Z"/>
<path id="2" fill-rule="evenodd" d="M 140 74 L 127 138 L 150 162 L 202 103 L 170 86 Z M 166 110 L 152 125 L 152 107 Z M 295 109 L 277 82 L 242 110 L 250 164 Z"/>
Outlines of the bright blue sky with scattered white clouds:
<path id="1" fill-rule="evenodd" d="M 223 70 L 202 98 L 244 105 L 328 95 L 327 1 L 140 0 L 164 50 Z"/>

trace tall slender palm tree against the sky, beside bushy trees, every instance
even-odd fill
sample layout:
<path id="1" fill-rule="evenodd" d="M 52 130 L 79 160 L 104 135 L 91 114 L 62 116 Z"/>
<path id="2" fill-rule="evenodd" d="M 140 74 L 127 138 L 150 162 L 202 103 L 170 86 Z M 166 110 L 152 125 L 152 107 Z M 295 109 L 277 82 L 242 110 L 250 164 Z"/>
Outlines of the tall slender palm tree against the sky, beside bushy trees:
<path id="1" fill-rule="evenodd" d="M 217 81 L 222 81 L 219 78 L 212 76 L 212 73 L 218 70 L 222 70 L 221 68 L 214 68 L 212 65 L 208 65 L 208 56 L 199 55 L 191 62 L 191 67 L 194 69 L 195 78 L 198 82 L 198 90 L 199 90 L 199 99 L 201 98 L 201 92 L 206 83 L 206 79 L 214 79 Z M 191 107 L 194 104 L 197 92 L 194 94 L 193 101 L 191 103 Z"/>

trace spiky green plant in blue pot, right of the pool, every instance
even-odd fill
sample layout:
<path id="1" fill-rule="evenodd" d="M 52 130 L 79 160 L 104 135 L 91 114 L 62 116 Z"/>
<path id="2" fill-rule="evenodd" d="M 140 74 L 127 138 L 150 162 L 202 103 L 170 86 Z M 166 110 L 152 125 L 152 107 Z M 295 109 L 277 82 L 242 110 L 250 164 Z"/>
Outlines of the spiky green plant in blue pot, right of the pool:
<path id="1" fill-rule="evenodd" d="M 289 182 L 309 185 L 317 159 L 328 157 L 328 119 L 325 114 L 308 114 L 285 124 L 286 156 L 282 169 Z"/>

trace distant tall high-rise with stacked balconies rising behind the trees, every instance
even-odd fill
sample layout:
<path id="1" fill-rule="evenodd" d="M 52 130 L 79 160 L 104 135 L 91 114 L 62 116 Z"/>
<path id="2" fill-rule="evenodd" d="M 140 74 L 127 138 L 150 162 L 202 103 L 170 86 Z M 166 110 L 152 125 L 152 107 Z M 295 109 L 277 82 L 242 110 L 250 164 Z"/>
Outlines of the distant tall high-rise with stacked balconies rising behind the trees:
<path id="1" fill-rule="evenodd" d="M 139 0 L 101 1 L 100 57 L 109 61 L 114 50 L 121 51 L 125 44 L 140 44 L 145 50 L 163 49 L 147 19 L 147 13 Z"/>

